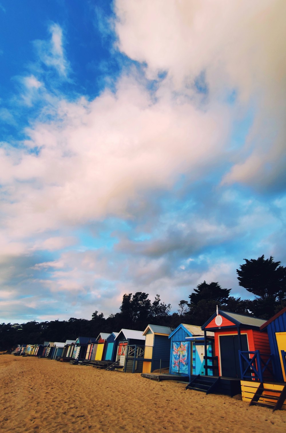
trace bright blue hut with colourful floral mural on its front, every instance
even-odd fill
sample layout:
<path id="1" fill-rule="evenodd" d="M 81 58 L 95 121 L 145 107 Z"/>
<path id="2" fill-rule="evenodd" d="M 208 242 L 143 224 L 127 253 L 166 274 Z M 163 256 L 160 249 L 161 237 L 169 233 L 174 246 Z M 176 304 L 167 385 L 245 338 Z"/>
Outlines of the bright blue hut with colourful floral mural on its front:
<path id="1" fill-rule="evenodd" d="M 214 333 L 206 333 L 206 345 L 204 341 L 204 332 L 200 326 L 188 325 L 181 323 L 170 333 L 170 352 L 169 352 L 169 372 L 170 374 L 180 376 L 204 375 L 205 365 L 205 346 L 207 356 L 213 354 Z M 212 366 L 208 362 L 209 367 Z M 212 369 L 209 368 L 209 375 L 212 375 Z"/>

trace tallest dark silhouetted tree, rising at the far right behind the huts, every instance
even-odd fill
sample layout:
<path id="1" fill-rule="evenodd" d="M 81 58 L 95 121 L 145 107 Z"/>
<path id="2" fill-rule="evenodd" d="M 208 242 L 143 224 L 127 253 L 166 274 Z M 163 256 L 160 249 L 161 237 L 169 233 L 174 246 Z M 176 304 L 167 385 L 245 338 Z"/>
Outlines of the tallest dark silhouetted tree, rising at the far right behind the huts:
<path id="1" fill-rule="evenodd" d="M 249 308 L 255 316 L 268 319 L 286 301 L 286 268 L 273 257 L 247 260 L 237 269 L 239 285 L 255 295 Z"/>

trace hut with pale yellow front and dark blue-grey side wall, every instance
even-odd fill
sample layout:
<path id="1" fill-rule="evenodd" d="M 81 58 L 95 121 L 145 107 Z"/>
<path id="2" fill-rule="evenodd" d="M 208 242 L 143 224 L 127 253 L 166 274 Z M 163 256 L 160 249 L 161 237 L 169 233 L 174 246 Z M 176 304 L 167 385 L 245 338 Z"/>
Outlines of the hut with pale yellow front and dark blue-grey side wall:
<path id="1" fill-rule="evenodd" d="M 151 373 L 159 368 L 170 365 L 170 339 L 171 328 L 167 326 L 148 325 L 143 332 L 145 350 L 142 373 Z"/>

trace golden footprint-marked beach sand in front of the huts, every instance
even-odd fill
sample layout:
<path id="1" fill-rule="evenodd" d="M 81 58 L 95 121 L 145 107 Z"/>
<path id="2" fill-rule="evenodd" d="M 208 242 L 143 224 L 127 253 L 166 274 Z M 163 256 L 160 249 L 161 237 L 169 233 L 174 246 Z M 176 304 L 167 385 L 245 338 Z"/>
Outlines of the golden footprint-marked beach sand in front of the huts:
<path id="1" fill-rule="evenodd" d="M 1 355 L 0 384 L 1 432 L 286 431 L 286 411 L 51 359 Z"/>

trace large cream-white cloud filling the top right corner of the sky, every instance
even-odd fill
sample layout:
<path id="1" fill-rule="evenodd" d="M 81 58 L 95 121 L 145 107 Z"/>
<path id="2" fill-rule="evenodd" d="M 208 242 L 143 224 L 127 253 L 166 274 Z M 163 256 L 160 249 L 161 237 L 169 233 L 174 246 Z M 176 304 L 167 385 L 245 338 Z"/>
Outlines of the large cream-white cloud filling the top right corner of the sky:
<path id="1" fill-rule="evenodd" d="M 224 182 L 258 189 L 285 184 L 286 3 L 170 0 L 167 8 L 164 0 L 115 4 L 118 46 L 146 63 L 148 77 L 167 71 L 174 89 L 186 93 L 186 84 L 205 71 L 211 98 L 235 88 L 242 106 L 254 107 L 245 148 L 235 155 Z"/>

